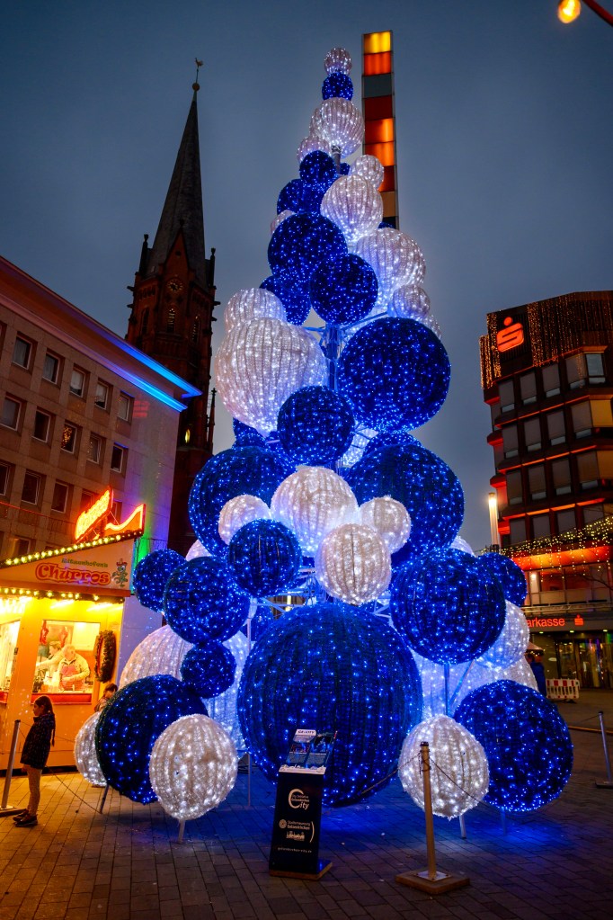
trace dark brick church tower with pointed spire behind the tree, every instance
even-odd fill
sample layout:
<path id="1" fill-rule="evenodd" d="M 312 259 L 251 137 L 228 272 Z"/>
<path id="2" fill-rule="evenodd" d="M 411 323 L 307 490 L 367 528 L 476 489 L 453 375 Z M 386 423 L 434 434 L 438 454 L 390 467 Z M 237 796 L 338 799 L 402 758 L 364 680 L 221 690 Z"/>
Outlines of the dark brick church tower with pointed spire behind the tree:
<path id="1" fill-rule="evenodd" d="M 215 250 L 205 257 L 198 133 L 193 86 L 187 122 L 160 223 L 129 290 L 133 293 L 126 339 L 201 391 L 181 414 L 168 546 L 187 553 L 194 536 L 187 497 L 194 477 L 213 450 L 215 390 L 210 388 L 215 301 Z M 154 420 L 153 424 L 154 424 Z"/>

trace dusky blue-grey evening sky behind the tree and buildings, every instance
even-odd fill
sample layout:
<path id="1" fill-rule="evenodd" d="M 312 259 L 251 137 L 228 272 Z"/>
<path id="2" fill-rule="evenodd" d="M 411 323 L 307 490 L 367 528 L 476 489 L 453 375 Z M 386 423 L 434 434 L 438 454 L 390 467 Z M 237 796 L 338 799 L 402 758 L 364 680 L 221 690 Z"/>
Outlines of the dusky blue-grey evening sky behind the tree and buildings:
<path id="1" fill-rule="evenodd" d="M 218 299 L 267 275 L 280 188 L 321 99 L 324 55 L 393 30 L 401 228 L 452 365 L 418 432 L 460 477 L 462 535 L 490 542 L 485 314 L 613 286 L 613 29 L 556 0 L 21 0 L 0 35 L 0 253 L 119 335 L 153 239 L 196 56 L 205 234 Z M 609 8 L 612 6 L 609 4 Z M 359 105 L 359 98 L 356 101 Z M 221 320 L 221 307 L 218 308 Z M 221 321 L 216 339 L 221 338 Z M 232 443 L 220 417 L 215 449 Z"/>

